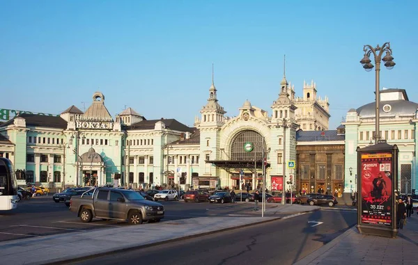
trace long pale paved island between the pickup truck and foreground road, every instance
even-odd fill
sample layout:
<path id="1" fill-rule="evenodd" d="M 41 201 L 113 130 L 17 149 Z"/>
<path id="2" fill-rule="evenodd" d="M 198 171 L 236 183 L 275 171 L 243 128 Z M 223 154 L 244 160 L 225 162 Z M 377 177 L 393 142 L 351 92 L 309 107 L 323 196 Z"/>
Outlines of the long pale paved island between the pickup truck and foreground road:
<path id="1" fill-rule="evenodd" d="M 95 256 L 118 250 L 153 246 L 190 236 L 213 234 L 280 219 L 277 214 L 317 211 L 319 207 L 277 204 L 266 209 L 265 217 L 229 216 L 170 220 L 162 223 L 72 232 L 0 242 L 1 264 L 61 264 L 66 260 Z M 257 212 L 257 213 L 258 213 Z M 22 258 L 30 257 L 30 258 Z"/>

